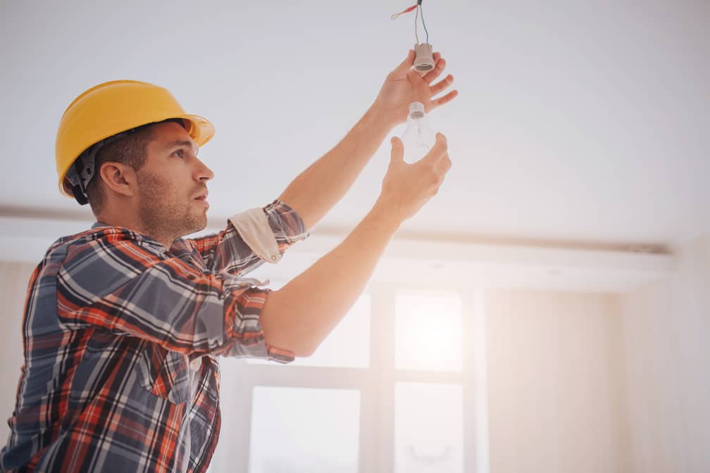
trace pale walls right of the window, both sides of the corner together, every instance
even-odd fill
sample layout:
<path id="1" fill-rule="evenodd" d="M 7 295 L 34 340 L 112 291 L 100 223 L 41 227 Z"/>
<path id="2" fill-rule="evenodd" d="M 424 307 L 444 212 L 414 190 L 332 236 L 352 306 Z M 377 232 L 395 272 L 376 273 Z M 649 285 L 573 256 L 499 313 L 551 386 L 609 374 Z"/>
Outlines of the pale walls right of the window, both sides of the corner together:
<path id="1" fill-rule="evenodd" d="M 486 291 L 491 472 L 710 471 L 710 236 L 627 294 Z"/>

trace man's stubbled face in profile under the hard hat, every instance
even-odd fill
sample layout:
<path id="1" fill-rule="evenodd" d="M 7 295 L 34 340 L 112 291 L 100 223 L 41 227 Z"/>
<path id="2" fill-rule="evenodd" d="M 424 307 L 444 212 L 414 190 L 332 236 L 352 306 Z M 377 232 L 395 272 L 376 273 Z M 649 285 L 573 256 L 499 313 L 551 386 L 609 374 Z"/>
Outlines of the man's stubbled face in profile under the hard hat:
<path id="1" fill-rule="evenodd" d="M 151 128 L 146 164 L 137 173 L 139 217 L 160 237 L 178 238 L 207 226 L 207 181 L 214 173 L 197 159 L 197 144 L 178 123 Z"/>

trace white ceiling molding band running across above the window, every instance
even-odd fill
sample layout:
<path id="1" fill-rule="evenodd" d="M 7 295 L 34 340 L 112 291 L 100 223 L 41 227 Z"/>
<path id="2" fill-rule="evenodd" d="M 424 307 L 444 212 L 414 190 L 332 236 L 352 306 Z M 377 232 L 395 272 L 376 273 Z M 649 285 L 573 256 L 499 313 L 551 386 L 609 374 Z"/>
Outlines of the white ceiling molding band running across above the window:
<path id="1" fill-rule="evenodd" d="M 38 262 L 62 235 L 86 230 L 91 216 L 46 213 L 32 209 L 0 211 L 0 260 Z M 80 218 L 77 218 L 80 217 Z M 219 218 L 206 231 L 222 228 Z M 288 281 L 345 238 L 348 230 L 316 228 L 278 265 L 262 265 L 250 275 Z M 449 235 L 450 236 L 450 235 Z M 373 282 L 408 286 L 511 287 L 564 291 L 626 293 L 674 272 L 674 255 L 599 247 L 555 247 L 507 242 L 470 243 L 421 235 L 396 235 L 373 272 Z M 344 271 L 347 268 L 343 269 Z"/>

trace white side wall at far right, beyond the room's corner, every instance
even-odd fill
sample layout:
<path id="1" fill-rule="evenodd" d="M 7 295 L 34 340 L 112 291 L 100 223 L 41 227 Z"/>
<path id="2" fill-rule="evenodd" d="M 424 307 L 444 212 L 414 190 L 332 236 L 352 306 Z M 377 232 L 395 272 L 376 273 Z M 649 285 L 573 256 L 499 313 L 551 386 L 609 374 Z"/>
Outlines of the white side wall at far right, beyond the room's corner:
<path id="1" fill-rule="evenodd" d="M 710 471 L 710 238 L 623 296 L 630 472 Z"/>

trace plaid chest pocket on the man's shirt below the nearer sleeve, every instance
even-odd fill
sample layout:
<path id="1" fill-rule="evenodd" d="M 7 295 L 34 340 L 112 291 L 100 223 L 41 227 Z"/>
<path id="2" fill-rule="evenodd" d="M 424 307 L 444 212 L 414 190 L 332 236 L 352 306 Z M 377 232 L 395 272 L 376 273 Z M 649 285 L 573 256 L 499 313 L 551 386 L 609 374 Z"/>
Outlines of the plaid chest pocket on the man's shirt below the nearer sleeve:
<path id="1" fill-rule="evenodd" d="M 138 357 L 138 382 L 174 404 L 190 399 L 190 360 L 160 345 L 147 344 Z"/>

